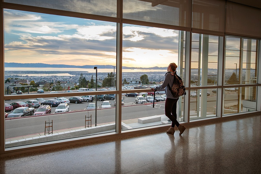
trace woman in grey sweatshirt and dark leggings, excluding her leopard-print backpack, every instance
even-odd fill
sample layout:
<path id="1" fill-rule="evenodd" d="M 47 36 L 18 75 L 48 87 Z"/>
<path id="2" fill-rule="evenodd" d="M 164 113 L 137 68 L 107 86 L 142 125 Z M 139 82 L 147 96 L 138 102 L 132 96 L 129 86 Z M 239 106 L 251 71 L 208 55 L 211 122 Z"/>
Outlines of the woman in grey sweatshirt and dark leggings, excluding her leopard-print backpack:
<path id="1" fill-rule="evenodd" d="M 151 88 L 153 91 L 157 91 L 160 89 L 165 88 L 166 93 L 166 102 L 165 102 L 165 115 L 172 121 L 171 127 L 167 130 L 168 134 L 174 135 L 175 133 L 175 125 L 180 131 L 180 135 L 184 132 L 186 129 L 183 125 L 179 124 L 177 121 L 177 101 L 179 100 L 179 97 L 175 98 L 171 94 L 171 89 L 169 89 L 169 86 L 172 87 L 173 81 L 174 81 L 174 74 L 176 73 L 177 65 L 175 63 L 170 63 L 167 68 L 167 73 L 165 74 L 164 82 L 161 86 Z"/>

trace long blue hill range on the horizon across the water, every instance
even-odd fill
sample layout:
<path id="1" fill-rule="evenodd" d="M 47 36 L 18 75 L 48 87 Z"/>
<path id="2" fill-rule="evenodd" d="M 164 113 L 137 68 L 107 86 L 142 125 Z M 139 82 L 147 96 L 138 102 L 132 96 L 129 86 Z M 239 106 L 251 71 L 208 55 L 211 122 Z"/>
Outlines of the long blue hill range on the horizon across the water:
<path id="1" fill-rule="evenodd" d="M 45 63 L 4 63 L 5 67 L 30 67 L 30 68 L 93 68 L 98 67 L 101 69 L 113 69 L 114 65 L 64 65 L 64 64 L 45 64 Z M 122 69 L 167 69 L 167 67 L 122 67 Z"/>

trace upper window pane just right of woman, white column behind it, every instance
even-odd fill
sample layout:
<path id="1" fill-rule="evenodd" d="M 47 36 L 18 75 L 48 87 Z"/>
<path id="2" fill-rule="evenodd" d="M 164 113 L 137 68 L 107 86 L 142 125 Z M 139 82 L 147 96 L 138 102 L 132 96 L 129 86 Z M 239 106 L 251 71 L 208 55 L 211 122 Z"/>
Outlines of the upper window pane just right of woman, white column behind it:
<path id="1" fill-rule="evenodd" d="M 218 36 L 192 33 L 191 86 L 217 85 Z"/>

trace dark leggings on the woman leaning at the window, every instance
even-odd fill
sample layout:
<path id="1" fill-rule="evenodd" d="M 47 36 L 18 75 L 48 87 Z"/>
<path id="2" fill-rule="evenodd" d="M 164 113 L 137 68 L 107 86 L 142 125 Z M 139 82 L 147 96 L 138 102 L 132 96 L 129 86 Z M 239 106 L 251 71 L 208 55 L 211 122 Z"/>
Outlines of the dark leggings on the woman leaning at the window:
<path id="1" fill-rule="evenodd" d="M 166 98 L 165 102 L 165 115 L 172 121 L 171 127 L 179 127 L 179 122 L 177 121 L 177 99 L 171 99 L 171 98 Z"/>

